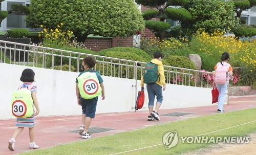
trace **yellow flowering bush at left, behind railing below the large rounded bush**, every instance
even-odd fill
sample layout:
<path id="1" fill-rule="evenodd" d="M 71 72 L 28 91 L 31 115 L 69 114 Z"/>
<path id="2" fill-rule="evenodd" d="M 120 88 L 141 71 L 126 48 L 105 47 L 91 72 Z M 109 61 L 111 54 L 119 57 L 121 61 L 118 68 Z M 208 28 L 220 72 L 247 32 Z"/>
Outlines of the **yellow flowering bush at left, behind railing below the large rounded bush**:
<path id="1" fill-rule="evenodd" d="M 43 31 L 38 32 L 38 37 L 41 39 L 41 46 L 57 48 L 69 45 L 73 32 L 69 30 L 67 32 L 62 31 L 62 25 L 63 24 L 60 23 L 60 26 L 58 25 L 54 30 L 41 25 L 41 28 L 44 27 Z"/>

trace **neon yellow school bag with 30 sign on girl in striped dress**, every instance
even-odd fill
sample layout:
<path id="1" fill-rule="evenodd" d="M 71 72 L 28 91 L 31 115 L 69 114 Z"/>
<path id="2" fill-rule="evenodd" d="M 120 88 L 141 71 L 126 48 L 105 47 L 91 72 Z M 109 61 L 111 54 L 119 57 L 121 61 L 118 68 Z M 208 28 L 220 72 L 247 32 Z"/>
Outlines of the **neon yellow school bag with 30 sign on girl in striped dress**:
<path id="1" fill-rule="evenodd" d="M 21 87 L 12 94 L 11 109 L 15 117 L 31 117 L 34 113 L 32 93 L 29 87 Z"/>

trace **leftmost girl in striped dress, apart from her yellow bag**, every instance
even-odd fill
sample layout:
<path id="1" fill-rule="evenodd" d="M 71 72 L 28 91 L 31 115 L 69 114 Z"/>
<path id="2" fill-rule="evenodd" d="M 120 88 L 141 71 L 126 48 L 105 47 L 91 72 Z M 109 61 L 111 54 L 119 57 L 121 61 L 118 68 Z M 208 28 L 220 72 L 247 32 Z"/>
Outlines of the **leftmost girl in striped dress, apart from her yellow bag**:
<path id="1" fill-rule="evenodd" d="M 31 92 L 31 97 L 33 99 L 32 106 L 35 106 L 36 111 L 33 110 L 34 113 L 27 118 L 17 117 L 16 123 L 15 123 L 15 126 L 17 128 L 14 131 L 12 138 L 9 140 L 9 145 L 8 145 L 8 148 L 12 151 L 14 151 L 15 140 L 18 137 L 18 135 L 23 131 L 24 127 L 29 128 L 29 138 L 30 138 L 29 148 L 30 149 L 39 148 L 39 146 L 36 145 L 34 142 L 35 116 L 39 114 L 39 106 L 36 98 L 37 87 L 36 85 L 33 84 L 33 82 L 35 81 L 34 77 L 35 77 L 35 73 L 31 69 L 25 69 L 22 72 L 22 76 L 20 77 L 20 81 L 22 81 L 23 84 L 18 86 L 18 90 L 25 88 Z"/>

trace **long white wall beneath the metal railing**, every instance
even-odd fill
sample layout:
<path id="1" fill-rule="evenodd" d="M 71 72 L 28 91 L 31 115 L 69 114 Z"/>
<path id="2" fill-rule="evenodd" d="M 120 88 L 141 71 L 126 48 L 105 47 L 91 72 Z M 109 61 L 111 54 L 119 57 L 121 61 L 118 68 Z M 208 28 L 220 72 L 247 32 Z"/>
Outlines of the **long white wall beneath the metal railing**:
<path id="1" fill-rule="evenodd" d="M 75 79 L 79 73 L 0 63 L 0 119 L 13 118 L 10 103 L 12 92 L 22 84 L 19 78 L 26 68 L 35 72 L 34 84 L 37 85 L 39 116 L 81 114 L 75 93 Z M 137 81 L 137 92 L 135 92 L 136 88 L 132 86 L 135 85 L 135 80 L 105 76 L 102 78 L 105 100 L 99 97 L 96 113 L 134 111 L 140 81 Z M 211 105 L 211 88 L 167 84 L 163 97 L 161 109 L 206 106 Z M 148 110 L 147 102 L 145 88 L 145 103 L 140 110 Z"/>

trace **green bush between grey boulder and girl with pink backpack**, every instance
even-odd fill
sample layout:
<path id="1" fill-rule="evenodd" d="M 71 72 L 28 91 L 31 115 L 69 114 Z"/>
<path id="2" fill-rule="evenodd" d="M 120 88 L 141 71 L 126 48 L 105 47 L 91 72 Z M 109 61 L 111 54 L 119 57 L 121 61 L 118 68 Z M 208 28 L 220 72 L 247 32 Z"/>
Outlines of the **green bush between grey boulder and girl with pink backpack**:
<path id="1" fill-rule="evenodd" d="M 202 70 L 211 72 L 214 71 L 215 65 L 220 61 L 220 58 L 213 57 L 208 53 L 198 53 L 202 61 Z"/>

